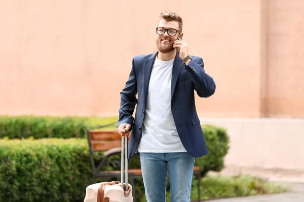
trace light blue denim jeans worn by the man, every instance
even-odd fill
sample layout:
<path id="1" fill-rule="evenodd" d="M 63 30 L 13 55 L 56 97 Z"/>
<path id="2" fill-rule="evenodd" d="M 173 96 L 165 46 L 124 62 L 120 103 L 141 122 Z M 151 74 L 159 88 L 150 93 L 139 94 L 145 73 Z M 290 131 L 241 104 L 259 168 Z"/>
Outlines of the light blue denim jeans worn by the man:
<path id="1" fill-rule="evenodd" d="M 172 202 L 190 201 L 195 158 L 188 153 L 140 153 L 147 202 L 166 201 L 169 174 Z"/>

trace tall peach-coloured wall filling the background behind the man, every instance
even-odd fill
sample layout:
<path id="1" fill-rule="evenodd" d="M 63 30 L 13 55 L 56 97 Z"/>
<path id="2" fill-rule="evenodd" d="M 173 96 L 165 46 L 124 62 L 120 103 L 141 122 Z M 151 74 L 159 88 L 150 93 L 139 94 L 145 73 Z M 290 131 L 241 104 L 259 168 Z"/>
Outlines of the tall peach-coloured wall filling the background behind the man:
<path id="1" fill-rule="evenodd" d="M 202 117 L 304 118 L 302 0 L 0 1 L 0 114 L 118 115 L 163 11 L 184 20 L 216 93 Z"/>

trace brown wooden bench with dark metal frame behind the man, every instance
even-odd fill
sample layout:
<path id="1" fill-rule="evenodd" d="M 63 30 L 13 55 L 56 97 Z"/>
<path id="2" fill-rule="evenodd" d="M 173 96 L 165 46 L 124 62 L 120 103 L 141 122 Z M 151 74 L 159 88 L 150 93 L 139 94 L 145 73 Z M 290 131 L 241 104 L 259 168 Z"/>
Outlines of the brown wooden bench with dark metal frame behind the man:
<path id="1" fill-rule="evenodd" d="M 102 177 L 115 177 L 117 180 L 120 180 L 121 177 L 121 160 L 119 159 L 116 162 L 108 161 L 109 157 L 112 155 L 121 155 L 121 146 L 122 138 L 117 130 L 100 130 L 99 129 L 87 129 L 88 144 L 90 149 L 90 160 L 93 171 L 93 178 L 102 178 Z M 131 134 L 132 135 L 132 134 Z M 102 155 L 98 155 L 96 152 L 102 152 Z M 94 156 L 100 158 L 98 165 L 95 164 Z M 105 171 L 102 170 L 102 166 L 105 163 L 110 163 L 117 170 Z M 193 170 L 194 175 L 198 177 L 198 195 L 200 200 L 200 182 L 201 182 L 201 172 L 200 167 L 195 166 Z M 135 185 L 134 179 L 142 177 L 141 169 L 128 169 L 128 178 L 130 179 L 130 184 Z M 132 190 L 133 198 L 135 199 L 135 189 Z"/>

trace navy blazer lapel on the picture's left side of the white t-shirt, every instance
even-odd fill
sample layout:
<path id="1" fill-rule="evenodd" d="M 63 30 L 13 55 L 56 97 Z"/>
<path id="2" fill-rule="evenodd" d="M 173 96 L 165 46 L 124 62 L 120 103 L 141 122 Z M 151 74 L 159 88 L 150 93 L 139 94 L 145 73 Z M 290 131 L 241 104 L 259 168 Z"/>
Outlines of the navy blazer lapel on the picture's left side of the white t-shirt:
<path id="1" fill-rule="evenodd" d="M 150 81 L 151 71 L 152 71 L 152 67 L 154 64 L 156 54 L 157 54 L 157 52 L 150 55 L 144 63 L 144 68 L 143 68 L 144 109 L 145 109 L 145 105 L 147 102 L 149 81 Z"/>

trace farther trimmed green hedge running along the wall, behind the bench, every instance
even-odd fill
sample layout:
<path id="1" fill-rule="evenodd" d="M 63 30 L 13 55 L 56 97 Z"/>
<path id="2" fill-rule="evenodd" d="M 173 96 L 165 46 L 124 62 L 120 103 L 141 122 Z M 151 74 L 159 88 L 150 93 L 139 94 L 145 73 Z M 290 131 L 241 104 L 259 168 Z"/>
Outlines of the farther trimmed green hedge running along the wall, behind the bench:
<path id="1" fill-rule="evenodd" d="M 110 128 L 117 127 L 117 118 L 98 117 L 34 117 L 34 116 L 2 116 L 0 117 L 0 138 L 34 139 L 56 137 L 85 137 L 85 128 L 99 124 L 115 123 Z M 107 127 L 109 128 L 109 127 Z"/>

